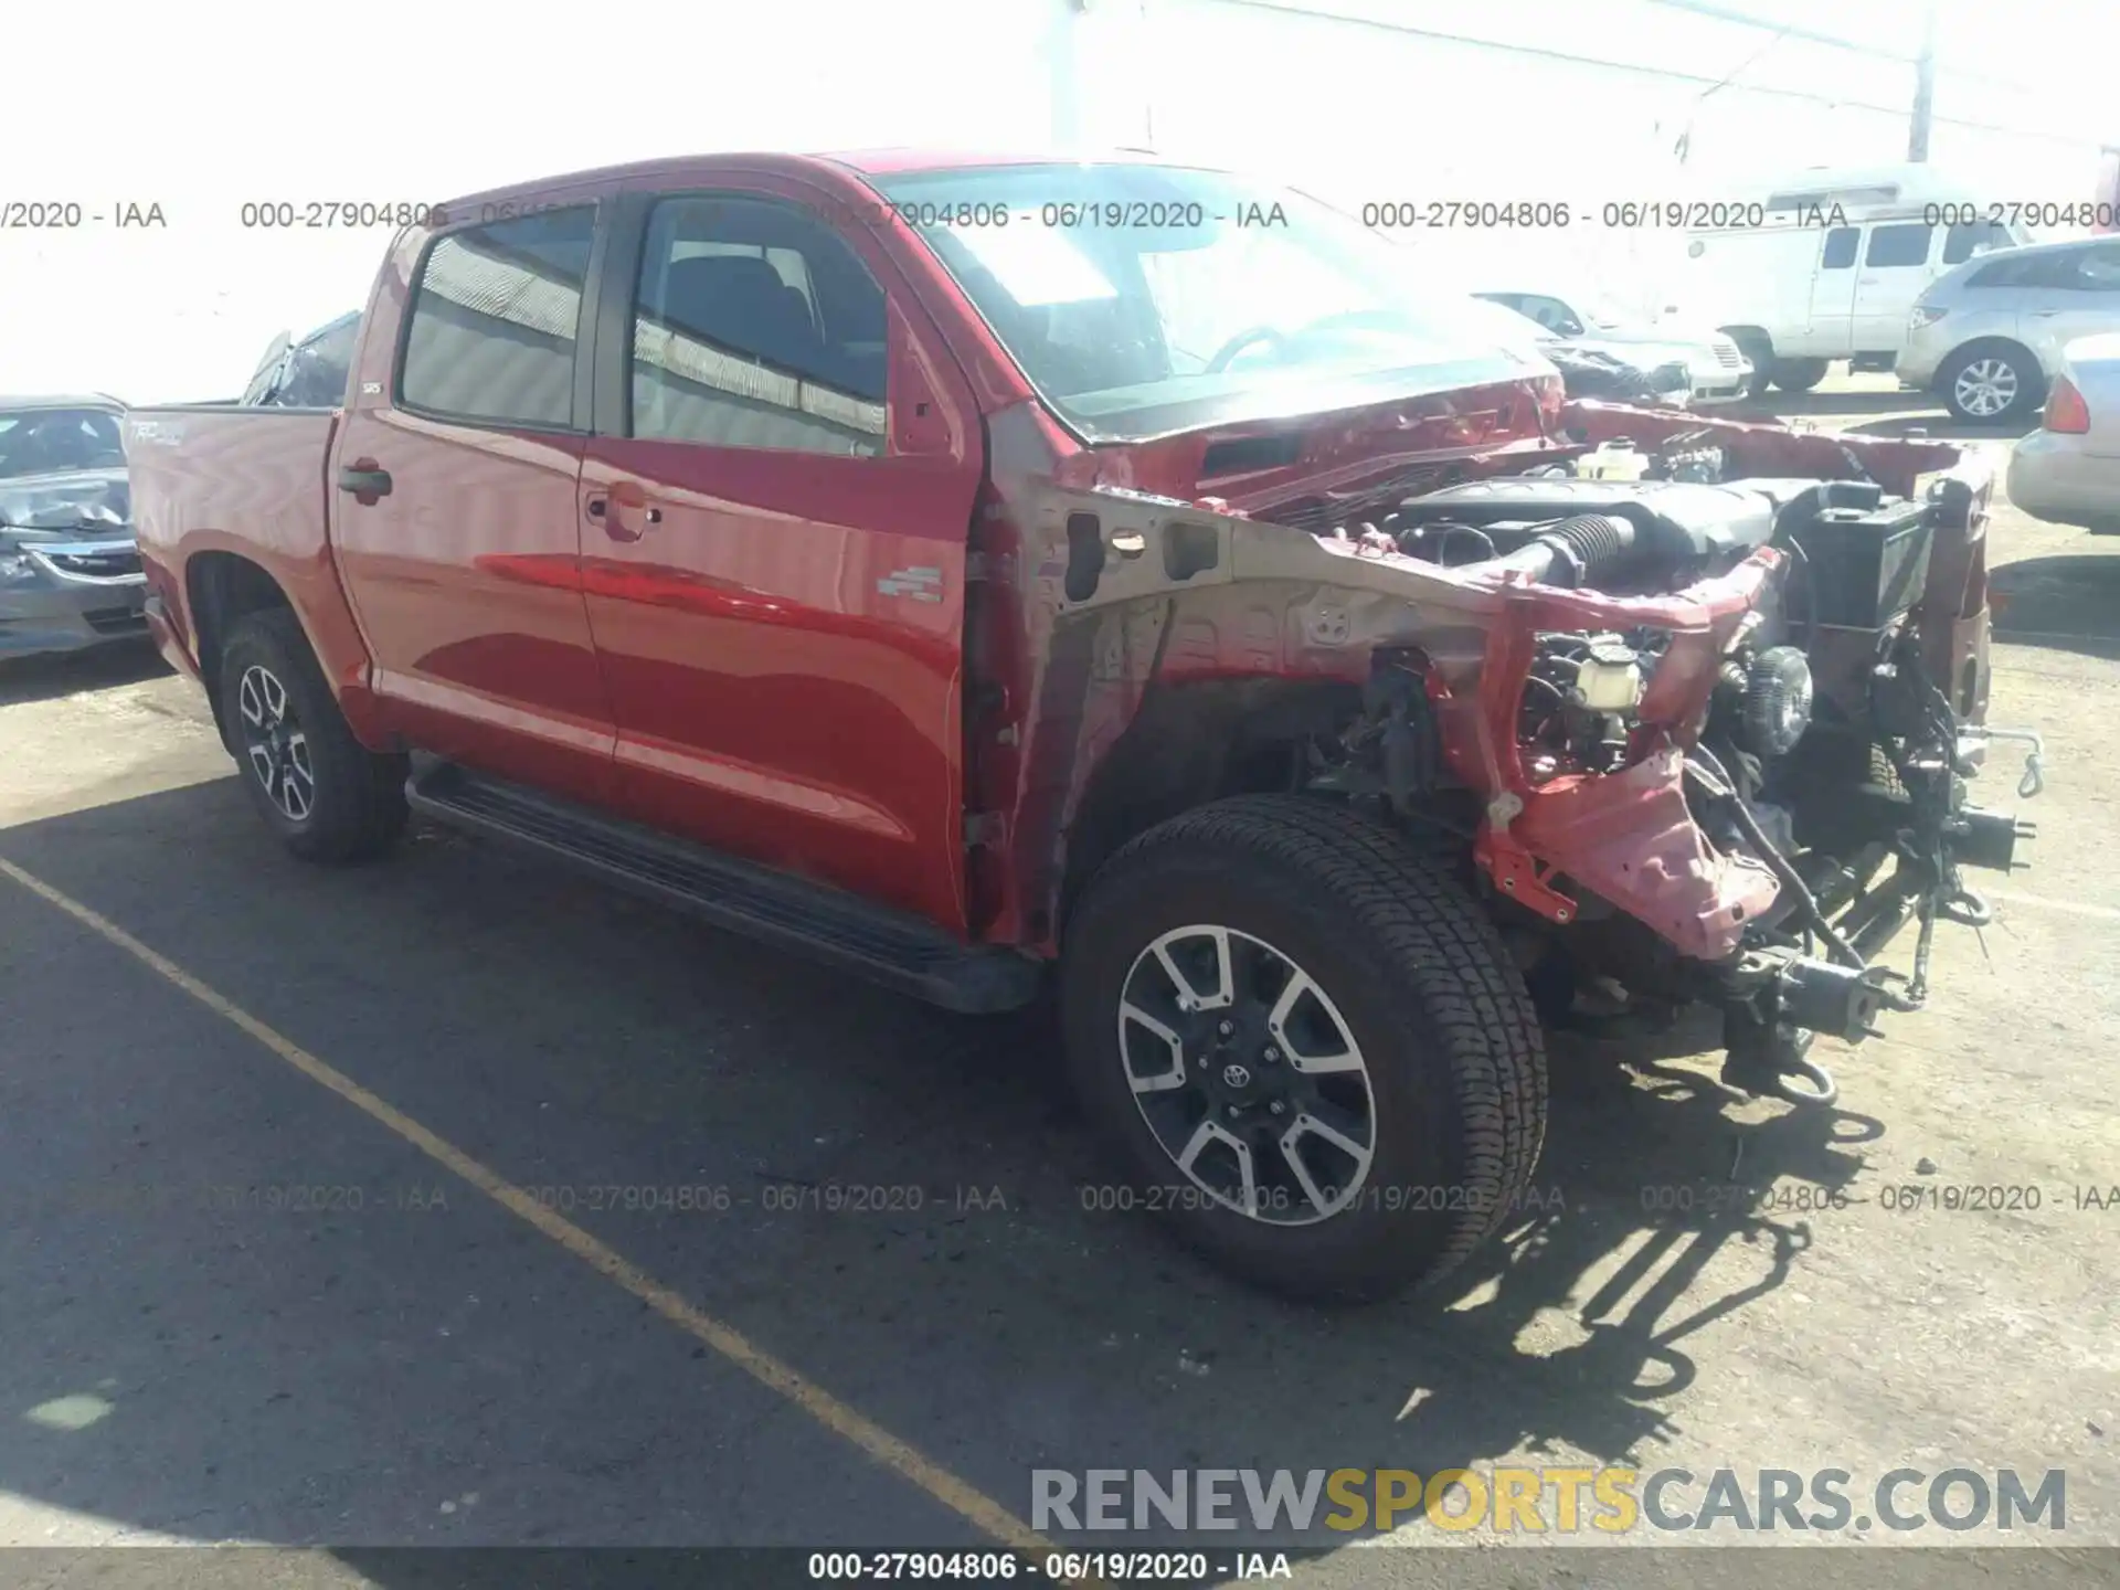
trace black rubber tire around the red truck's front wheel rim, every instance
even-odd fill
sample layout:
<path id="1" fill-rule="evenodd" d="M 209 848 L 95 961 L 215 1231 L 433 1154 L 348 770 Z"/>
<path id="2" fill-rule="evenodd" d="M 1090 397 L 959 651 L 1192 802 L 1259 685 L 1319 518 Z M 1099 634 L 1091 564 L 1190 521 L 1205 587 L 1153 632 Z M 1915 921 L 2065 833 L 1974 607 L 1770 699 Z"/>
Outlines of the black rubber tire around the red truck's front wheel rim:
<path id="1" fill-rule="evenodd" d="M 1280 950 L 1338 1007 L 1370 1075 L 1374 1158 L 1359 1196 L 1274 1225 L 1191 1196 L 1134 1102 L 1119 1001 L 1136 958 L 1213 922 Z M 1062 1026 L 1083 1111 L 1121 1174 L 1225 1270 L 1312 1302 L 1431 1285 L 1524 1208 L 1545 1138 L 1545 1047 L 1486 912 L 1399 833 L 1353 808 L 1242 795 L 1113 854 L 1073 912 Z"/>

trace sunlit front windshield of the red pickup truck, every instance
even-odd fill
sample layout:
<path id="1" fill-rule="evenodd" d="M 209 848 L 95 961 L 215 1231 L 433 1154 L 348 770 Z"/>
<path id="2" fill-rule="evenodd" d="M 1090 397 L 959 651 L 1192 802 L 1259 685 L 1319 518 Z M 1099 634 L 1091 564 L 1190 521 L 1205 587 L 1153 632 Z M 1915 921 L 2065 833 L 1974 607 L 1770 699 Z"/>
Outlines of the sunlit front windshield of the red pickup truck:
<path id="1" fill-rule="evenodd" d="M 1041 396 L 1092 441 L 1514 379 L 1529 356 L 1410 250 L 1314 199 L 1172 165 L 880 182 Z"/>

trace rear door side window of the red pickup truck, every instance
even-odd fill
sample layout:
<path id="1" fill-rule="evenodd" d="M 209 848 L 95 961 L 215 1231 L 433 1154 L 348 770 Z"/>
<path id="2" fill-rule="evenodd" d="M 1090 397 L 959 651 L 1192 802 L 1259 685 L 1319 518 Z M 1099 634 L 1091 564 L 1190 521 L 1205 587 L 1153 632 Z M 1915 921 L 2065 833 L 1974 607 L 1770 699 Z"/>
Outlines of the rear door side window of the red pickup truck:
<path id="1" fill-rule="evenodd" d="M 596 210 L 443 233 L 420 267 L 399 401 L 490 424 L 566 426 Z"/>

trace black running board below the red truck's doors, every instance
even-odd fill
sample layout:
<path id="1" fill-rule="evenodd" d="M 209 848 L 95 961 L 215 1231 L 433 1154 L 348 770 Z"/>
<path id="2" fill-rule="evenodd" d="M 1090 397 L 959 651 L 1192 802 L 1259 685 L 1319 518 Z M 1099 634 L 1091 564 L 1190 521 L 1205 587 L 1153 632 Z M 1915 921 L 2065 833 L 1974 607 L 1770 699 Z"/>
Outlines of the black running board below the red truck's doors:
<path id="1" fill-rule="evenodd" d="M 435 823 L 541 850 L 719 929 L 806 954 L 950 1011 L 1028 1005 L 1041 965 L 962 943 L 907 912 L 759 867 L 447 761 L 420 757 L 405 799 Z"/>

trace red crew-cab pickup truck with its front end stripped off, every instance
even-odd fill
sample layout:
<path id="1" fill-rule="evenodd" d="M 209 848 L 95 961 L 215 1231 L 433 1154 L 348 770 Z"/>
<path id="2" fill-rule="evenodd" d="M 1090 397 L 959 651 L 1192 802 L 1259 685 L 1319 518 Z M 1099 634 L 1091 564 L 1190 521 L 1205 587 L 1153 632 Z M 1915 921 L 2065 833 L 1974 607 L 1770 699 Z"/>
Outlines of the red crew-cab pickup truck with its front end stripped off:
<path id="1" fill-rule="evenodd" d="M 2022 833 L 1965 803 L 1974 462 L 1565 403 L 1467 320 L 1147 159 L 473 195 L 339 407 L 131 413 L 151 623 L 297 854 L 420 812 L 952 1009 L 1056 984 L 1134 1202 L 1380 1295 L 1520 1211 L 1545 1030 L 1707 1003 L 1830 1102 L 1813 1035 L 1919 1005 Z"/>

